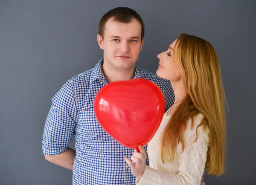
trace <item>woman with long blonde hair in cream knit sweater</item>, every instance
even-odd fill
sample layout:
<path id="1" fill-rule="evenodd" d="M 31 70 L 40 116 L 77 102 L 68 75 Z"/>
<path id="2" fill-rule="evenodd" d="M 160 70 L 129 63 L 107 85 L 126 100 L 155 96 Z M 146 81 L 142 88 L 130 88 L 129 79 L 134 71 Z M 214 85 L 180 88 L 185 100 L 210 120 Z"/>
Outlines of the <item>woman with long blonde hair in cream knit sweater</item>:
<path id="1" fill-rule="evenodd" d="M 171 81 L 175 103 L 164 114 L 146 154 L 130 161 L 137 185 L 202 185 L 204 171 L 224 173 L 225 95 L 221 69 L 212 45 L 182 34 L 160 59 L 157 75 Z"/>

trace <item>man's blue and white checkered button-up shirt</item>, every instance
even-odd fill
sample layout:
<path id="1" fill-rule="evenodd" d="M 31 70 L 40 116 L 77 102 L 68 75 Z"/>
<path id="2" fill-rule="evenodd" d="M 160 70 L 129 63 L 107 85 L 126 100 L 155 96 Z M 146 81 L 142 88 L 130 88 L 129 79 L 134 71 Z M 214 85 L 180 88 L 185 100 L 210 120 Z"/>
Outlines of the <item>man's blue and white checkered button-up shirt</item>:
<path id="1" fill-rule="evenodd" d="M 44 126 L 43 153 L 57 155 L 66 151 L 74 136 L 73 185 L 134 185 L 136 178 L 124 160 L 125 156 L 131 157 L 134 149 L 111 138 L 94 114 L 94 98 L 107 84 L 102 64 L 103 58 L 93 69 L 68 80 L 52 98 Z M 133 78 L 145 78 L 157 84 L 164 94 L 166 110 L 171 107 L 174 93 L 169 81 L 137 66 Z"/>

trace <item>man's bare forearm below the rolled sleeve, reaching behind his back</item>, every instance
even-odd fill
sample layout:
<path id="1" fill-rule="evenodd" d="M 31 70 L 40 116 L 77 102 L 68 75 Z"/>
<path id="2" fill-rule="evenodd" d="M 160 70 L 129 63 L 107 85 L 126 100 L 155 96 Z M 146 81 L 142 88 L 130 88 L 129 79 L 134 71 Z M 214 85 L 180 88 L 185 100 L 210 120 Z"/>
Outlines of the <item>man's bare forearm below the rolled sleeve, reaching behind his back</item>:
<path id="1" fill-rule="evenodd" d="M 70 147 L 68 147 L 67 150 L 64 151 L 63 153 L 60 153 L 54 156 L 44 155 L 47 161 L 52 162 L 55 165 L 59 165 L 61 167 L 67 168 L 69 170 L 72 170 L 73 168 L 75 156 L 76 156 L 76 151 Z"/>

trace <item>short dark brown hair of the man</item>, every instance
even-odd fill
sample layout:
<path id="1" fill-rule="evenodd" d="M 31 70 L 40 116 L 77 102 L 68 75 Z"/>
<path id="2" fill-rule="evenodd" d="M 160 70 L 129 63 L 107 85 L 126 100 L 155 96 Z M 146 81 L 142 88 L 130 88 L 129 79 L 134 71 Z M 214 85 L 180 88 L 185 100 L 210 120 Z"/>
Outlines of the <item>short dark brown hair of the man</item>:
<path id="1" fill-rule="evenodd" d="M 102 16 L 99 22 L 99 35 L 101 35 L 102 38 L 104 38 L 105 24 L 112 17 L 114 21 L 118 21 L 120 23 L 131 23 L 132 19 L 139 21 L 141 25 L 141 40 L 143 40 L 145 32 L 143 20 L 137 12 L 128 7 L 117 7 L 115 9 L 111 9 Z"/>

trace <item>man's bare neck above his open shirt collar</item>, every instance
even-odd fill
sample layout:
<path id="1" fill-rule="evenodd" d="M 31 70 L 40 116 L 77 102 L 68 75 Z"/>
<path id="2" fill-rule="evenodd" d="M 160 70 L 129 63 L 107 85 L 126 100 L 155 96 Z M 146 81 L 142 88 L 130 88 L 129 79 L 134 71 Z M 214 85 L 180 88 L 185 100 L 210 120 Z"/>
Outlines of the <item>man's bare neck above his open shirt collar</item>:
<path id="1" fill-rule="evenodd" d="M 134 76 L 134 67 L 131 69 L 113 69 L 107 63 L 103 63 L 102 72 L 108 83 L 113 81 L 131 80 Z"/>

